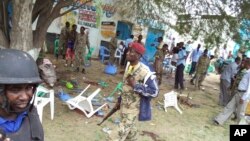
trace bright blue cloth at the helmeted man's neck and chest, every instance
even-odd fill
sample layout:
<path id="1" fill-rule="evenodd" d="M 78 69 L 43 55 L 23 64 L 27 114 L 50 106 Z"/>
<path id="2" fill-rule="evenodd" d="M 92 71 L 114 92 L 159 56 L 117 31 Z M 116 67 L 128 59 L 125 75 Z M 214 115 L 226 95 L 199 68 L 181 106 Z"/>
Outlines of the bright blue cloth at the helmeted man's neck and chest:
<path id="1" fill-rule="evenodd" d="M 20 129 L 23 119 L 27 115 L 27 112 L 23 112 L 19 114 L 15 120 L 8 120 L 0 117 L 0 128 L 2 128 L 6 134 L 14 133 Z"/>

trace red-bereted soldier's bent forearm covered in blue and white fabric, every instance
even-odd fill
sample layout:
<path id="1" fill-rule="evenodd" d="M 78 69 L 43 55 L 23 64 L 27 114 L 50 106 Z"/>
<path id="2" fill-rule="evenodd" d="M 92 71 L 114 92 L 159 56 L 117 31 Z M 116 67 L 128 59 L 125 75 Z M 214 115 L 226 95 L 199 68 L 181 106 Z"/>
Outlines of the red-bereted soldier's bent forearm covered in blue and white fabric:
<path id="1" fill-rule="evenodd" d="M 156 76 L 151 75 L 147 79 L 145 84 L 143 83 L 135 84 L 134 91 L 146 97 L 156 97 L 159 93 L 158 84 L 156 82 Z"/>

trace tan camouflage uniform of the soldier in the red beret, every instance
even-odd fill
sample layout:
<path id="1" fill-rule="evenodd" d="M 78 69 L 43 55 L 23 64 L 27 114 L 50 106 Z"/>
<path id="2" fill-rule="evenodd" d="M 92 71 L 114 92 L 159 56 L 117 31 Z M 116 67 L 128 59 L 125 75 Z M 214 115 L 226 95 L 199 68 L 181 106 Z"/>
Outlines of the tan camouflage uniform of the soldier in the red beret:
<path id="1" fill-rule="evenodd" d="M 128 75 L 133 75 L 137 84 L 140 83 L 141 86 L 144 87 L 142 82 L 149 73 L 149 68 L 144 64 L 139 63 L 133 68 L 128 67 L 128 69 L 126 69 L 124 78 L 127 78 Z M 141 104 L 140 99 L 142 95 L 138 92 L 135 92 L 135 88 L 131 88 L 126 82 L 124 82 L 124 84 L 120 107 L 121 122 L 117 129 L 112 130 L 111 134 L 109 134 L 108 141 L 137 141 L 138 131 L 135 123 L 138 120 L 137 116 L 139 114 L 139 107 Z M 158 94 L 158 86 L 156 93 Z M 153 97 L 155 96 L 156 95 Z"/>

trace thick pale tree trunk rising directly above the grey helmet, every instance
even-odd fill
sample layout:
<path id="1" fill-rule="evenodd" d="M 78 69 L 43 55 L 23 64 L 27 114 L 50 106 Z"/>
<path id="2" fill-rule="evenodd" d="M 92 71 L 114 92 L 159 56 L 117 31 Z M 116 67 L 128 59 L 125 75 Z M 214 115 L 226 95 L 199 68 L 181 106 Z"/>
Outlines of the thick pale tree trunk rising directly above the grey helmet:
<path id="1" fill-rule="evenodd" d="M 13 0 L 12 31 L 10 48 L 29 51 L 33 48 L 32 1 Z"/>

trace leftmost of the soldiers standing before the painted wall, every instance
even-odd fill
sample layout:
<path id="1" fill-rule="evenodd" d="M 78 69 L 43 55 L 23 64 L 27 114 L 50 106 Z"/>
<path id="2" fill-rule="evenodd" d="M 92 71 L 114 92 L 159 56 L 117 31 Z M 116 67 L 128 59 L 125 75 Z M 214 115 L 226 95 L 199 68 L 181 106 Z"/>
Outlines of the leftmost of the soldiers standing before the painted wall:
<path id="1" fill-rule="evenodd" d="M 60 38 L 59 38 L 59 54 L 65 59 L 66 49 L 68 45 L 68 36 L 70 32 L 70 23 L 66 22 L 65 27 L 62 28 Z"/>

